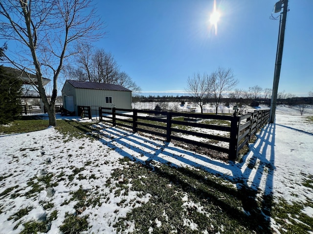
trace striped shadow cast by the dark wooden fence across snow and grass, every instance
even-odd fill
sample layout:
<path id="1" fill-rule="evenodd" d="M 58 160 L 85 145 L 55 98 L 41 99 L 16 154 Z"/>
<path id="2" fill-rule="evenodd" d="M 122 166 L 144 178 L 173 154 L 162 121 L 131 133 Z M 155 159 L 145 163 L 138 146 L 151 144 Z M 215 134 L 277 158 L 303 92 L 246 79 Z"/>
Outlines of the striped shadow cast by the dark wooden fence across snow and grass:
<path id="1" fill-rule="evenodd" d="M 170 142 L 150 140 L 147 137 L 141 137 L 136 133 L 131 133 L 116 127 L 109 127 L 106 124 L 97 124 L 99 131 L 96 136 L 104 145 L 114 149 L 121 156 L 128 157 L 143 165 L 149 164 L 152 160 L 168 164 L 170 166 L 184 168 L 192 166 L 200 168 L 208 173 L 221 176 L 224 179 L 236 184 L 237 191 L 229 190 L 226 186 L 218 182 L 211 182 L 217 191 L 229 193 L 241 200 L 245 212 L 229 207 L 218 196 L 211 196 L 210 199 L 216 205 L 221 207 L 225 214 L 236 221 L 249 227 L 252 231 L 259 232 L 259 227 L 264 232 L 270 229 L 269 217 L 272 203 L 272 184 L 274 171 L 274 144 L 275 144 L 275 125 L 268 124 L 263 131 L 257 136 L 257 140 L 250 147 L 250 152 L 243 157 L 240 163 L 226 163 L 223 161 L 213 160 L 208 156 L 195 154 L 176 148 Z M 157 173 L 157 171 L 156 171 Z M 190 176 L 198 180 L 205 181 L 205 178 L 199 178 L 199 175 L 188 172 Z M 173 178 L 173 175 L 165 175 L 171 180 L 180 181 L 179 178 Z M 263 190 L 262 198 L 264 202 L 256 202 L 257 191 Z M 205 196 L 205 191 L 199 191 L 198 194 Z M 201 197 L 203 199 L 203 197 Z M 255 211 L 262 211 L 255 213 Z M 267 216 L 265 216 L 265 215 Z M 255 225 L 257 224 L 257 225 Z"/>

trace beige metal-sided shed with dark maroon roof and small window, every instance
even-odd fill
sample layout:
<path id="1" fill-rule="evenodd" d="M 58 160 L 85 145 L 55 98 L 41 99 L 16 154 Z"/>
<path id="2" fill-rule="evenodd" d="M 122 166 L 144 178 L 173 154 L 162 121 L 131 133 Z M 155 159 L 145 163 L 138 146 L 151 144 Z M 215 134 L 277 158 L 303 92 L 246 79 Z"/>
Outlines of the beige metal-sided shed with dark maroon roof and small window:
<path id="1" fill-rule="evenodd" d="M 117 84 L 67 79 L 62 88 L 63 106 L 78 115 L 78 106 L 89 106 L 92 115 L 99 107 L 132 109 L 132 91 Z"/>

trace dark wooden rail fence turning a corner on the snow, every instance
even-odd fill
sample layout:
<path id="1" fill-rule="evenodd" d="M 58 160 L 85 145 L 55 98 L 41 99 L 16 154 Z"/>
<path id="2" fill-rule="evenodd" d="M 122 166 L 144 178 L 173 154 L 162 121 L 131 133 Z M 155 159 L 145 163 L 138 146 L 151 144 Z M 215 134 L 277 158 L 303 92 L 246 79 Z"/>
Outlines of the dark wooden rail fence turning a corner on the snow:
<path id="1" fill-rule="evenodd" d="M 102 122 L 228 154 L 236 160 L 239 151 L 269 118 L 269 110 L 246 115 L 208 115 L 137 109 L 99 108 Z M 199 121 L 202 120 L 202 121 Z"/>

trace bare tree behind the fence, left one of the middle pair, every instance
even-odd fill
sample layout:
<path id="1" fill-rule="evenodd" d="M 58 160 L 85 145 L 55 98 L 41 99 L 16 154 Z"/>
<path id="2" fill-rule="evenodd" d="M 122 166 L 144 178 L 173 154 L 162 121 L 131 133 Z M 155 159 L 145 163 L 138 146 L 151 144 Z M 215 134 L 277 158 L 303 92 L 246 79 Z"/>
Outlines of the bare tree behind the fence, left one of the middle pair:
<path id="1" fill-rule="evenodd" d="M 200 106 L 201 114 L 203 114 L 203 106 L 206 104 L 206 99 L 210 93 L 210 84 L 209 77 L 205 73 L 202 76 L 197 73 L 192 78 L 188 77 L 187 79 L 187 88 L 185 90 L 193 96 L 194 102 Z"/>

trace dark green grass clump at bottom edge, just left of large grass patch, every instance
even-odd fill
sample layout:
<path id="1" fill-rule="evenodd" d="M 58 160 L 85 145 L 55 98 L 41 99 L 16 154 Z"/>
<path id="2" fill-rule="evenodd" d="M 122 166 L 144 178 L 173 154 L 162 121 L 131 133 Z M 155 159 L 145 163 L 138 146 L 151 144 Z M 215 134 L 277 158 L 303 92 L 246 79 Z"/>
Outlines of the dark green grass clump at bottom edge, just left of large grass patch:
<path id="1" fill-rule="evenodd" d="M 87 215 L 78 217 L 67 213 L 65 217 L 63 225 L 60 227 L 60 231 L 63 232 L 63 234 L 80 234 L 88 230 Z"/>

